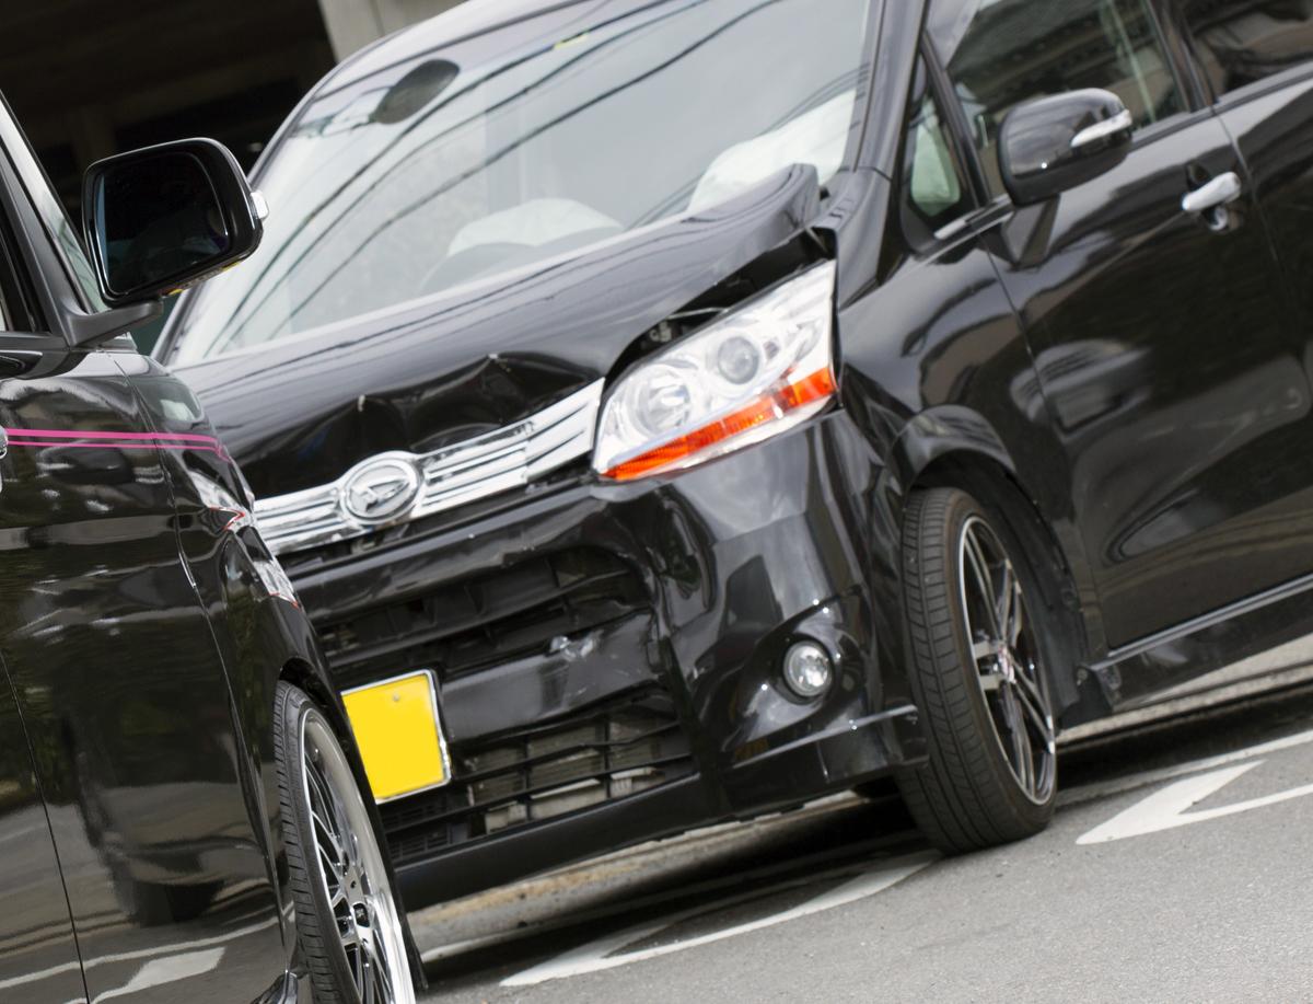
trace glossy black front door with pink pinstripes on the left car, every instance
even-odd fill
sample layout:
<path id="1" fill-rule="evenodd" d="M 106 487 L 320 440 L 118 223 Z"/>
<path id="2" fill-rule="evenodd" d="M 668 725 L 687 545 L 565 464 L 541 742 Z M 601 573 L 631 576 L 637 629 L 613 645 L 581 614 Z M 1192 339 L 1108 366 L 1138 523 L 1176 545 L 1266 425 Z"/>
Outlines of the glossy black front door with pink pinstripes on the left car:
<path id="1" fill-rule="evenodd" d="M 286 954 L 226 675 L 180 560 L 161 463 L 176 444 L 152 438 L 108 352 L 47 350 L 0 380 L 0 652 L 53 752 L 42 785 L 88 990 L 252 1000 Z"/>

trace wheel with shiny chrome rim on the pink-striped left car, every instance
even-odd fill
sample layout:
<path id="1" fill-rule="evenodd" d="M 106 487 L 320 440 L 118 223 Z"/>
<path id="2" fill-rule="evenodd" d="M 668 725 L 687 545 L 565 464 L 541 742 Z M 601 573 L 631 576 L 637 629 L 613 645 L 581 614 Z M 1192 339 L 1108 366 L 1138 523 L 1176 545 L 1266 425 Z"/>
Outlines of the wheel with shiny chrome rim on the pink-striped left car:
<path id="1" fill-rule="evenodd" d="M 314 999 L 414 1004 L 400 908 L 349 761 L 305 691 L 280 683 L 274 700 L 282 836 Z"/>

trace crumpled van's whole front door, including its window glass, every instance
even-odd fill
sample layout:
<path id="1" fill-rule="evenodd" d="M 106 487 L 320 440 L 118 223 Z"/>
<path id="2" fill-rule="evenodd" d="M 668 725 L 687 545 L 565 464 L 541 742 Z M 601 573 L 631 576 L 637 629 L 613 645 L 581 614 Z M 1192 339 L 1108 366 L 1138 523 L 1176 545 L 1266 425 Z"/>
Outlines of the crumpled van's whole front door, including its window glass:
<path id="1" fill-rule="evenodd" d="M 1211 112 L 1184 110 L 1155 8 L 939 9 L 932 32 L 990 194 L 1002 121 L 1024 101 L 1100 87 L 1137 124 L 1107 175 L 1011 213 L 1004 197 L 991 238 L 1067 455 L 1108 643 L 1313 570 L 1313 418 L 1292 306 L 1230 137 Z M 1228 173 L 1238 201 L 1183 209 Z"/>

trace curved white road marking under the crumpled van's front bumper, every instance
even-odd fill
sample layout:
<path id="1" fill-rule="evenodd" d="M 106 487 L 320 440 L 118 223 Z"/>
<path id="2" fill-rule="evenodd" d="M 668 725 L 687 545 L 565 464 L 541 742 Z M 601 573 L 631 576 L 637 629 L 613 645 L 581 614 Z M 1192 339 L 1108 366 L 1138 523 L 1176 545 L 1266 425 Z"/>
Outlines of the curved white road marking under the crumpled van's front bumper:
<path id="1" fill-rule="evenodd" d="M 638 951 L 620 953 L 626 945 L 633 945 L 637 941 L 643 941 L 662 930 L 666 930 L 675 924 L 680 924 L 692 917 L 697 917 L 705 913 L 712 913 L 717 909 L 723 909 L 731 907 L 737 903 L 743 903 L 752 899 L 760 899 L 767 895 L 762 890 L 754 890 L 752 892 L 743 892 L 737 896 L 729 896 L 725 899 L 716 900 L 714 903 L 706 903 L 692 909 L 683 911 L 667 917 L 662 917 L 656 921 L 650 921 L 647 924 L 638 924 L 626 930 L 621 930 L 616 934 L 608 934 L 605 937 L 597 938 L 587 945 L 578 949 L 566 951 L 562 955 L 549 959 L 533 969 L 528 969 L 523 972 L 517 972 L 513 976 L 508 976 L 502 980 L 503 987 L 528 987 L 537 983 L 546 983 L 551 979 L 565 979 L 567 976 L 579 976 L 586 972 L 597 972 L 600 970 L 616 969 L 617 966 L 628 966 L 630 962 L 642 962 L 643 959 L 658 958 L 660 955 L 668 955 L 674 951 L 684 951 L 685 949 L 699 947 L 701 945 L 709 945 L 716 941 L 723 941 L 725 938 L 733 938 L 739 934 L 747 934 L 754 930 L 762 930 L 764 928 L 771 928 L 777 924 L 786 924 L 790 920 L 798 920 L 800 917 L 806 917 L 813 913 L 819 913 L 825 909 L 832 909 L 835 907 L 842 907 L 848 903 L 855 903 L 859 899 L 865 899 L 867 896 L 873 896 L 877 892 L 884 892 L 886 888 L 895 886 L 905 878 L 916 874 L 922 869 L 934 863 L 939 859 L 935 853 L 922 853 L 913 854 L 910 857 L 898 858 L 890 862 L 882 863 L 880 867 L 872 869 L 863 873 L 857 878 L 843 883 L 842 886 L 830 890 L 826 894 L 809 899 L 792 909 L 783 911 L 781 913 L 773 913 L 768 917 L 760 917 L 758 920 L 737 924 L 731 928 L 723 928 L 721 930 L 713 930 L 709 934 L 701 934 L 693 938 L 685 938 L 683 941 L 675 941 L 668 945 L 656 945 L 650 949 L 641 949 Z"/>

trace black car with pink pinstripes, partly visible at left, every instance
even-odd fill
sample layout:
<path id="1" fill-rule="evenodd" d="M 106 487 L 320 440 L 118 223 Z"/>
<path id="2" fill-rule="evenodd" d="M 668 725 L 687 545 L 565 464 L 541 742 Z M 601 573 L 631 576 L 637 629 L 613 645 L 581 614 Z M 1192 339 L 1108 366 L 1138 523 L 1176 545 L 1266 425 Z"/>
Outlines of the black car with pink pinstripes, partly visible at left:
<path id="1" fill-rule="evenodd" d="M 0 1000 L 414 1001 L 310 620 L 127 334 L 244 258 L 260 202 L 184 141 L 84 204 L 87 251 L 0 101 Z"/>

